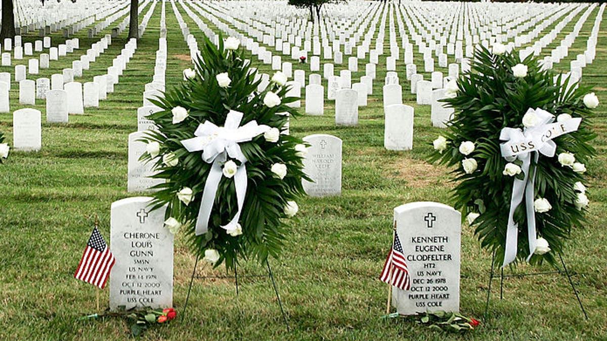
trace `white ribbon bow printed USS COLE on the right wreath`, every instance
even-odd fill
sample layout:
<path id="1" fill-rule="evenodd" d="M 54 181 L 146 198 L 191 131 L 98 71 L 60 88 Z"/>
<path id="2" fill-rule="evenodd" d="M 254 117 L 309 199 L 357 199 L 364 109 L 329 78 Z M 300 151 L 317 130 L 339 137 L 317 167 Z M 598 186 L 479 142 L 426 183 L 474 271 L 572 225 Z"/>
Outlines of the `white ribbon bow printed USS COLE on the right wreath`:
<path id="1" fill-rule="evenodd" d="M 554 121 L 554 115 L 542 109 L 527 110 L 527 113 L 535 113 L 537 124 L 533 127 L 504 128 L 500 133 L 500 140 L 506 141 L 500 144 L 501 156 L 507 161 L 512 162 L 518 158 L 523 161 L 524 178 L 514 179 L 512 185 L 512 197 L 510 198 L 510 212 L 508 214 L 508 228 L 506 230 L 506 246 L 504 251 L 504 264 L 506 266 L 517 258 L 518 224 L 514 221 L 514 211 L 525 198 L 525 209 L 527 211 L 527 233 L 529 235 L 529 257 L 535 251 L 536 234 L 535 231 L 535 210 L 534 210 L 534 181 L 535 172 L 529 174 L 531 158 L 537 163 L 540 154 L 547 157 L 554 157 L 557 145 L 552 141 L 565 133 L 573 132 L 578 129 L 582 118 L 571 118 L 563 122 Z"/>

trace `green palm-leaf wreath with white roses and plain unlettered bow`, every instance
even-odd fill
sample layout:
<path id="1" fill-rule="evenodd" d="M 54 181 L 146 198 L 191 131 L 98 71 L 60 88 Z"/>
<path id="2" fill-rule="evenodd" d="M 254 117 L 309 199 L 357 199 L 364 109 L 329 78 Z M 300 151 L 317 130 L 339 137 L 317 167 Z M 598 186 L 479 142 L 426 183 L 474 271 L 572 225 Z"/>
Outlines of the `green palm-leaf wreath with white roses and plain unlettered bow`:
<path id="1" fill-rule="evenodd" d="M 168 204 L 164 224 L 190 237 L 194 252 L 215 266 L 232 268 L 237 258 L 265 262 L 282 250 L 285 218 L 297 212 L 304 194 L 302 141 L 281 133 L 288 115 L 287 76 L 261 80 L 240 56 L 240 41 L 208 39 L 194 70 L 154 100 L 163 110 L 148 116 L 142 160 L 155 164 L 153 208 Z"/>

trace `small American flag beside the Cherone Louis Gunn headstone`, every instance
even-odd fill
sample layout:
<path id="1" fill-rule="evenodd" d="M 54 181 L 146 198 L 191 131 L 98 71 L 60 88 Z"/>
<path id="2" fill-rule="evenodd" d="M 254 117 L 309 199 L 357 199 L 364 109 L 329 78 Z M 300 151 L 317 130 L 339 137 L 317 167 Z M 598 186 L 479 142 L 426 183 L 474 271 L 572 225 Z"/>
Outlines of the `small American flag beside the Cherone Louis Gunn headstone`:
<path id="1" fill-rule="evenodd" d="M 95 226 L 74 277 L 103 289 L 114 263 L 114 255 Z"/>

